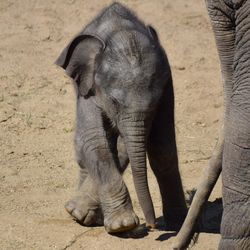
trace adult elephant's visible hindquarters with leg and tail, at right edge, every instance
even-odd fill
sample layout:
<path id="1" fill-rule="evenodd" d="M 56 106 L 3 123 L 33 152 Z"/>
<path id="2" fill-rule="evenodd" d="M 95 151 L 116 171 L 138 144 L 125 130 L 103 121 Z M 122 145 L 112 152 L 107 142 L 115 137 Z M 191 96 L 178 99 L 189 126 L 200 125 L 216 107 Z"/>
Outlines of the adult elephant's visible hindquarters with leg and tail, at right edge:
<path id="1" fill-rule="evenodd" d="M 224 80 L 224 129 L 174 249 L 185 249 L 222 169 L 220 250 L 250 249 L 250 1 L 207 0 Z"/>

